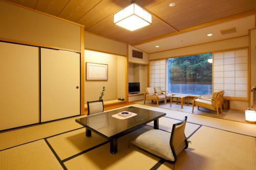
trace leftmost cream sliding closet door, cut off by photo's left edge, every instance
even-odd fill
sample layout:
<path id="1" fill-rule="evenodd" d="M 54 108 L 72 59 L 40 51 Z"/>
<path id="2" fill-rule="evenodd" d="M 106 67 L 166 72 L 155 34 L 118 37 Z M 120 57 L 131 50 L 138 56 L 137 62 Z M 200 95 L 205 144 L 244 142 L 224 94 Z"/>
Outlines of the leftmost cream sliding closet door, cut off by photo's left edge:
<path id="1" fill-rule="evenodd" d="M 0 130 L 39 123 L 39 48 L 0 42 Z"/>

